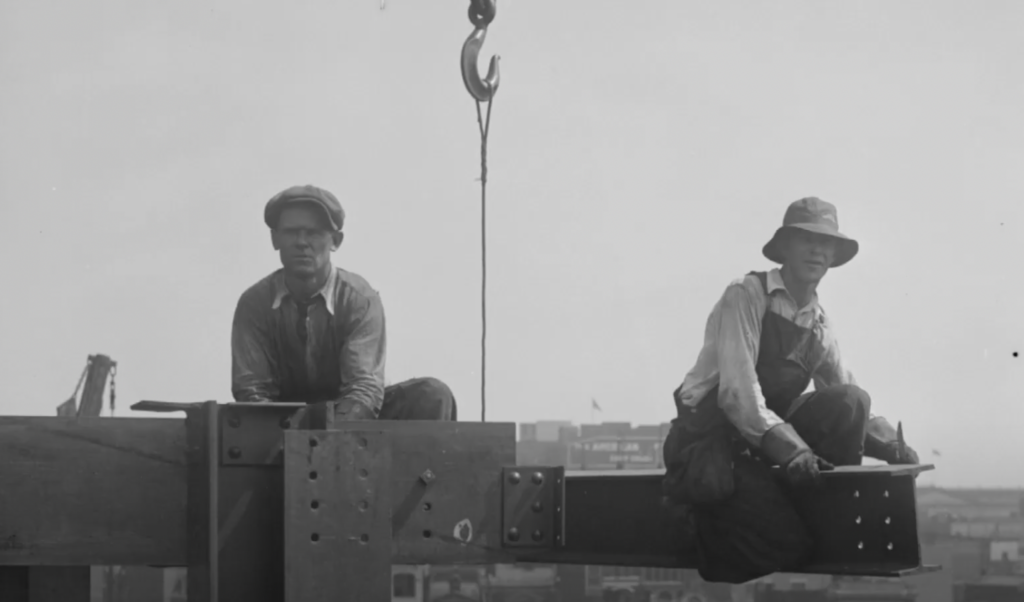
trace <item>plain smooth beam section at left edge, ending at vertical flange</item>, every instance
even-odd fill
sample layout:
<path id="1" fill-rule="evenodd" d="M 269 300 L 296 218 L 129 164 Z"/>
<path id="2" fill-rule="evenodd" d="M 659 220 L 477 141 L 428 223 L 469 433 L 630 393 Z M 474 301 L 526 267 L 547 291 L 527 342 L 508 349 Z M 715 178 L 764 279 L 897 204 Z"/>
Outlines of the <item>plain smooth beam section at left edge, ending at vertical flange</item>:
<path id="1" fill-rule="evenodd" d="M 0 565 L 185 564 L 183 421 L 0 418 Z"/>

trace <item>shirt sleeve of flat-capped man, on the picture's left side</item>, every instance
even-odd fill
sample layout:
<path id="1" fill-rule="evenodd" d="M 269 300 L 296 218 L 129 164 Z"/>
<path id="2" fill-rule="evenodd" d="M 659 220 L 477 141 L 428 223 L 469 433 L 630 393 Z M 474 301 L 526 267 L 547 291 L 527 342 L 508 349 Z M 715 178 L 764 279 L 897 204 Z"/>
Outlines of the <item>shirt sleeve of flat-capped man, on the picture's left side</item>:
<path id="1" fill-rule="evenodd" d="M 278 401 L 281 386 L 263 312 L 245 295 L 231 321 L 231 394 L 236 401 Z"/>

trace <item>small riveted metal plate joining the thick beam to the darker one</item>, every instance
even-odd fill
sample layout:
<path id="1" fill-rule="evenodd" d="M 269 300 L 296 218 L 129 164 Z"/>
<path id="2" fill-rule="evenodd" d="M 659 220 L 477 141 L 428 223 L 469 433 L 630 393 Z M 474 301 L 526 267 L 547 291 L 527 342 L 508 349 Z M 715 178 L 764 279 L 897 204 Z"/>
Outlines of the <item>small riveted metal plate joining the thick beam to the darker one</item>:
<path id="1" fill-rule="evenodd" d="M 563 546 L 564 499 L 564 467 L 503 468 L 502 546 L 535 549 Z"/>

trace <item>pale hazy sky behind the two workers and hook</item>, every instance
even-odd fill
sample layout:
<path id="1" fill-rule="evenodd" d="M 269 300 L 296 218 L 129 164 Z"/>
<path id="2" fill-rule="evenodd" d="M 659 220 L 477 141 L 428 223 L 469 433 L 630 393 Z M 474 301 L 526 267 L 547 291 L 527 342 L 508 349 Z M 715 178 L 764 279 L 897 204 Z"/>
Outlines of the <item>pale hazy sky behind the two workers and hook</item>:
<path id="1" fill-rule="evenodd" d="M 234 305 L 280 265 L 263 205 L 313 183 L 381 293 L 388 380 L 479 420 L 467 6 L 3 3 L 0 415 L 52 416 L 92 353 L 117 416 L 229 401 Z M 1024 5 L 498 8 L 488 422 L 671 420 L 712 306 L 817 196 L 861 246 L 821 304 L 922 479 L 1024 486 Z"/>

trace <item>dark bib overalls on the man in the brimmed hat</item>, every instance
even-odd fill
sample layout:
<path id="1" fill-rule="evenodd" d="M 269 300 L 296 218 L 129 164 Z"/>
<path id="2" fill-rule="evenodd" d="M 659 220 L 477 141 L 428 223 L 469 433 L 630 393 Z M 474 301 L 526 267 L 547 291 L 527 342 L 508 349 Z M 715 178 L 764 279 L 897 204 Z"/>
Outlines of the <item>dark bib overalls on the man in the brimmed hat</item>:
<path id="1" fill-rule="evenodd" d="M 752 273 L 767 294 L 767 273 Z M 822 356 L 813 329 L 772 312 L 768 304 L 755 367 L 766 405 L 825 460 L 860 464 L 866 407 L 852 394 L 855 388 L 804 393 Z M 811 551 L 810 535 L 790 492 L 729 423 L 717 395 L 718 387 L 690 407 L 679 402 L 676 390 L 678 418 L 664 446 L 663 485 L 667 504 L 686 523 L 679 536 L 696 544 L 706 580 L 744 583 L 799 567 Z"/>

